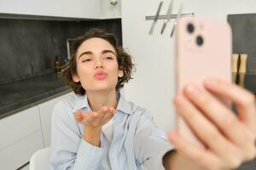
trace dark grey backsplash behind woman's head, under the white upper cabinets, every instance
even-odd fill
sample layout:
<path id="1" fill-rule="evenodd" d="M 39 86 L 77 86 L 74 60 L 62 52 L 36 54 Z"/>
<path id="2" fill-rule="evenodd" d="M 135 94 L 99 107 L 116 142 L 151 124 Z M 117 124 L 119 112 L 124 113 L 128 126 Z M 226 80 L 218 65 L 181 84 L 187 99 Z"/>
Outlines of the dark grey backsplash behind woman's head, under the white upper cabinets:
<path id="1" fill-rule="evenodd" d="M 92 27 L 113 32 L 122 44 L 121 20 L 0 19 L 0 84 L 55 71 L 55 55 L 67 59 L 67 38 Z"/>

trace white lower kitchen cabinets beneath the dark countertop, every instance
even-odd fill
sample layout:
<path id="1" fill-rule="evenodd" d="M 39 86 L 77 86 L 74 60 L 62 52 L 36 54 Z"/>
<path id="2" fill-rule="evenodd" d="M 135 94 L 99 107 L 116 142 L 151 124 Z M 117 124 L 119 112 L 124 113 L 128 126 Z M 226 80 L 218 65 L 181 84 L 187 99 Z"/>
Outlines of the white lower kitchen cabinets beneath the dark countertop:
<path id="1" fill-rule="evenodd" d="M 0 169 L 17 169 L 37 150 L 49 146 L 53 107 L 71 94 L 63 94 L 0 119 Z"/>

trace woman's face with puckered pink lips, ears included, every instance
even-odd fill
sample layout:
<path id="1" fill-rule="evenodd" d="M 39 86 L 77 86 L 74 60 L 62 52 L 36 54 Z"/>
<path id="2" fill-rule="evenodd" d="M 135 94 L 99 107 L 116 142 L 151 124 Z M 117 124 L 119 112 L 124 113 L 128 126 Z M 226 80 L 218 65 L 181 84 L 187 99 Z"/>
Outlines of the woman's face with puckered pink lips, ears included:
<path id="1" fill-rule="evenodd" d="M 73 76 L 73 81 L 81 82 L 87 93 L 113 90 L 118 77 L 124 75 L 119 70 L 113 46 L 102 38 L 93 37 L 84 41 L 78 49 L 76 63 L 77 74 Z"/>

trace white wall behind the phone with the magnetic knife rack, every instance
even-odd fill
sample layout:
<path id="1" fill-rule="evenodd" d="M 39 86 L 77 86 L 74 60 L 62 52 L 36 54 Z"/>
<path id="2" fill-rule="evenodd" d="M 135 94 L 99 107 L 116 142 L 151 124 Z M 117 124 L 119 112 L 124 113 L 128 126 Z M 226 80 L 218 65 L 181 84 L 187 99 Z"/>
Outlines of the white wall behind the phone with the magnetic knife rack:
<path id="1" fill-rule="evenodd" d="M 169 0 L 163 0 L 161 14 L 166 14 Z M 166 27 L 163 35 L 160 29 L 163 20 L 154 28 L 154 35 L 148 35 L 152 20 L 146 15 L 154 15 L 160 0 L 123 0 L 122 29 L 124 47 L 129 48 L 137 64 L 134 80 L 125 85 L 125 96 L 137 105 L 148 108 L 155 121 L 165 130 L 173 127 L 174 96 L 173 40 L 170 38 L 172 25 Z M 180 0 L 175 0 L 177 12 Z M 184 0 L 183 13 L 194 12 L 195 16 L 226 20 L 227 14 L 256 13 L 255 0 Z"/>

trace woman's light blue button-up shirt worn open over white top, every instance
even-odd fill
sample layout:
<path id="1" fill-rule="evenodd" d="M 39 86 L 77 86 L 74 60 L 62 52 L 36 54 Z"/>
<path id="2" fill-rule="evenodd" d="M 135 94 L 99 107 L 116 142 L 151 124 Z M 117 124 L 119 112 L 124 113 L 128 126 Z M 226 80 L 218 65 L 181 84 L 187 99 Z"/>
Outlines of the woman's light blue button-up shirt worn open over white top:
<path id="1" fill-rule="evenodd" d="M 172 145 L 154 123 L 149 111 L 119 94 L 113 116 L 113 139 L 102 129 L 101 146 L 83 138 L 84 125 L 74 112 L 91 111 L 86 95 L 73 95 L 55 105 L 51 131 L 51 170 L 164 169 L 162 158 Z"/>

